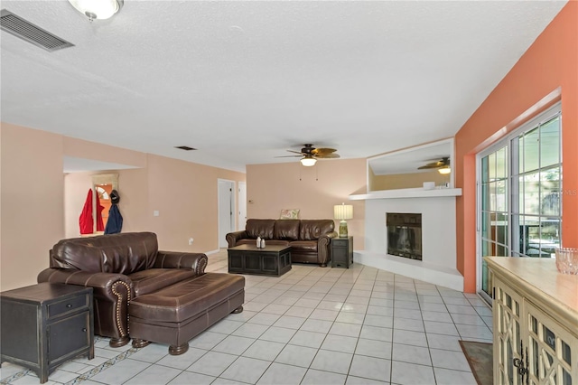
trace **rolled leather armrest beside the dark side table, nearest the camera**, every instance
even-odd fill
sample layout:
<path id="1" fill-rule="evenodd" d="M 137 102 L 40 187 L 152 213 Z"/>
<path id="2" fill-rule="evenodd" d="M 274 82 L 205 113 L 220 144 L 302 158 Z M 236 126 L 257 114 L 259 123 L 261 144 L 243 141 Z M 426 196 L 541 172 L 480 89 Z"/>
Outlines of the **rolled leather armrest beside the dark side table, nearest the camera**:
<path id="1" fill-rule="evenodd" d="M 134 296 L 133 282 L 123 274 L 46 268 L 37 281 L 92 287 L 95 303 L 95 333 L 128 342 L 128 304 Z M 111 340 L 111 345 L 113 341 Z"/>

